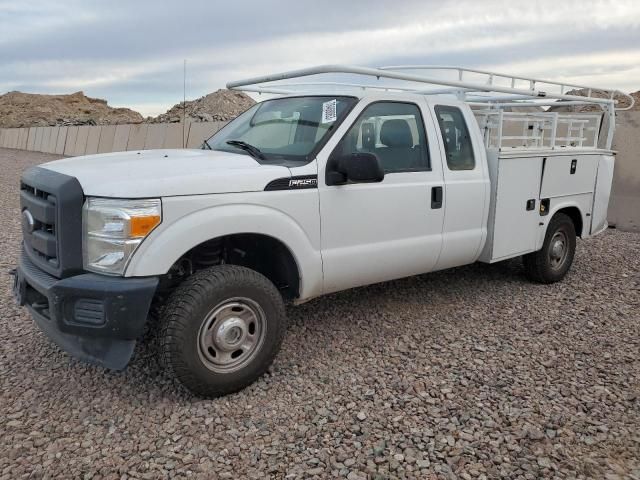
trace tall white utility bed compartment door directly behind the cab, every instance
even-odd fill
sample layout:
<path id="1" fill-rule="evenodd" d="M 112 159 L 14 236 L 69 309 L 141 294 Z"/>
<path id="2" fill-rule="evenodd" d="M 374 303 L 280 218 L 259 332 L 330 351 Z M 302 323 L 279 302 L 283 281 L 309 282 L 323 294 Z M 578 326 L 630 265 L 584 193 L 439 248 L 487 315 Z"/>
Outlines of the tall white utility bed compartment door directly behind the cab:
<path id="1" fill-rule="evenodd" d="M 491 261 L 535 250 L 542 157 L 500 158 Z"/>

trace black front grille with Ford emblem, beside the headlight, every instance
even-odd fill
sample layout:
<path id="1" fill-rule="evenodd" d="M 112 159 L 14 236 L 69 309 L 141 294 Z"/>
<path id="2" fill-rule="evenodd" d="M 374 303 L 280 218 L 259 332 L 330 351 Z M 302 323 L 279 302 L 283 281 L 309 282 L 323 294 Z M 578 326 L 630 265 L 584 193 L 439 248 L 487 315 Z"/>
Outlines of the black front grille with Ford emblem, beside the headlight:
<path id="1" fill-rule="evenodd" d="M 82 203 L 75 177 L 34 167 L 22 175 L 20 206 L 25 252 L 45 272 L 64 278 L 82 271 Z"/>

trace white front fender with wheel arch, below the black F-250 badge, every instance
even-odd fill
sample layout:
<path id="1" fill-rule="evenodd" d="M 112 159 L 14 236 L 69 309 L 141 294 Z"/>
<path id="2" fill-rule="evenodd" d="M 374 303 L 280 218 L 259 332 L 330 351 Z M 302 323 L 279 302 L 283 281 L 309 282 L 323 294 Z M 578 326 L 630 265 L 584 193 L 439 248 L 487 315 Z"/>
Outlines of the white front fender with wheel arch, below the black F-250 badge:
<path id="1" fill-rule="evenodd" d="M 196 245 L 224 235 L 258 233 L 289 249 L 301 298 L 322 293 L 318 191 L 247 192 L 163 198 L 162 223 L 132 257 L 127 277 L 162 275 Z"/>

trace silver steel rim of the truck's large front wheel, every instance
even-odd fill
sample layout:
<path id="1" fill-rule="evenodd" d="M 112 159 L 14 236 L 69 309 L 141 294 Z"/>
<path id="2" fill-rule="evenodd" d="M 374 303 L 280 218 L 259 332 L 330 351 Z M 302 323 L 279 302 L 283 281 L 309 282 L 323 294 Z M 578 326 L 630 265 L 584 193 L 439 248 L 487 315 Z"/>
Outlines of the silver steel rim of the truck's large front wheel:
<path id="1" fill-rule="evenodd" d="M 249 298 L 231 298 L 216 305 L 198 332 L 198 354 L 216 373 L 238 371 L 260 351 L 266 333 L 264 311 Z"/>

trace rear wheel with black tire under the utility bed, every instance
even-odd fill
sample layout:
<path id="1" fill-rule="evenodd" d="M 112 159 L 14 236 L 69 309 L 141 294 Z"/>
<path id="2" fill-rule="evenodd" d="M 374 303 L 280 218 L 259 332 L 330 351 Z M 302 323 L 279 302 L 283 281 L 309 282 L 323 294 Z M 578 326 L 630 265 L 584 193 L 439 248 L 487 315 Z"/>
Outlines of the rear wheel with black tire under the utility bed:
<path id="1" fill-rule="evenodd" d="M 542 249 L 522 257 L 529 279 L 539 283 L 562 280 L 573 263 L 576 252 L 576 229 L 564 213 L 557 213 L 549 222 Z"/>

